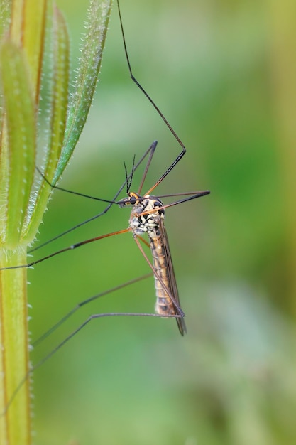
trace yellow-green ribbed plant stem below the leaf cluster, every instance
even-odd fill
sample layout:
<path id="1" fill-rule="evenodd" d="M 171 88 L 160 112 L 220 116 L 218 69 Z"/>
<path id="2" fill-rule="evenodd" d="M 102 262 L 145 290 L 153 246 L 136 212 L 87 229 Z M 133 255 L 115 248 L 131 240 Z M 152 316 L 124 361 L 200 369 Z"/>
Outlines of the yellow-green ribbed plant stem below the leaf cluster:
<path id="1" fill-rule="evenodd" d="M 26 253 L 2 250 L 0 267 L 13 264 L 26 264 Z M 26 268 L 0 271 L 0 327 L 0 445 L 29 445 L 29 379 L 9 404 L 29 369 Z"/>

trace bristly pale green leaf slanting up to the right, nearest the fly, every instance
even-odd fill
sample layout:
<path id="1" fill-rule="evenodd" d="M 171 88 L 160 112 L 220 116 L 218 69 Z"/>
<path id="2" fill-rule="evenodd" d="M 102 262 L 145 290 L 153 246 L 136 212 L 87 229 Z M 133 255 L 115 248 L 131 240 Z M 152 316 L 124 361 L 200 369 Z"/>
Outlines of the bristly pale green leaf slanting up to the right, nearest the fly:
<path id="1" fill-rule="evenodd" d="M 90 1 L 87 33 L 82 46 L 80 66 L 75 80 L 75 91 L 68 111 L 62 155 L 53 183 L 56 183 L 72 155 L 86 122 L 89 107 L 92 104 L 102 61 L 111 3 L 111 0 Z"/>

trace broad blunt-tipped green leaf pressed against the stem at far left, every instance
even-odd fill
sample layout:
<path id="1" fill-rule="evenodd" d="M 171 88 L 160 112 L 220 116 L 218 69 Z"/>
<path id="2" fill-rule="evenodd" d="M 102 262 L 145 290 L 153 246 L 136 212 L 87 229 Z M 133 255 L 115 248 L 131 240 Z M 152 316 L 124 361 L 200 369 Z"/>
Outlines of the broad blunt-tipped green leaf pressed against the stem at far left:
<path id="1" fill-rule="evenodd" d="M 21 242 L 35 172 L 35 107 L 22 50 L 6 42 L 0 58 L 7 128 L 7 147 L 4 144 L 1 151 L 1 187 L 8 197 L 5 242 L 13 248 Z"/>

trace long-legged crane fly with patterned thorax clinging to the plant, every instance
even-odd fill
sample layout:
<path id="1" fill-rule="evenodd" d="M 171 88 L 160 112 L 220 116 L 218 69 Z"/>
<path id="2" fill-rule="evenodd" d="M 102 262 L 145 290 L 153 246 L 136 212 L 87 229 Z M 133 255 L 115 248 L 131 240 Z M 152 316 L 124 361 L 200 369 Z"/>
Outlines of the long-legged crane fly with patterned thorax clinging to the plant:
<path id="1" fill-rule="evenodd" d="M 35 264 L 43 262 L 43 261 L 50 259 L 52 257 L 55 257 L 56 255 L 62 254 L 63 252 L 67 252 L 68 250 L 75 250 L 78 247 L 82 247 L 82 245 L 87 245 L 91 242 L 94 242 L 97 240 L 102 240 L 106 237 L 111 237 L 114 235 L 120 235 L 120 234 L 123 234 L 126 232 L 131 232 L 133 235 L 133 239 L 135 240 L 139 250 L 141 251 L 141 254 L 143 254 L 143 257 L 146 259 L 146 262 L 148 263 L 148 266 L 150 267 L 150 269 L 152 270 L 153 275 L 154 275 L 155 293 L 156 293 L 155 313 L 132 313 L 132 312 L 111 313 L 110 312 L 110 313 L 98 313 L 98 314 L 93 314 L 92 316 L 89 316 L 89 318 L 87 318 L 87 320 L 84 321 L 84 323 L 82 323 L 75 331 L 70 333 L 70 335 L 67 336 L 64 339 L 64 341 L 59 343 L 48 355 L 45 356 L 45 358 L 40 360 L 39 363 L 34 365 L 31 368 L 31 370 L 29 370 L 28 375 L 24 376 L 23 380 L 20 382 L 20 384 L 18 385 L 16 390 L 13 392 L 11 400 L 9 400 L 9 402 L 7 404 L 6 411 L 9 408 L 14 397 L 16 397 L 18 390 L 20 390 L 21 386 L 28 378 L 28 376 L 31 375 L 31 373 L 34 370 L 39 368 L 40 365 L 45 363 L 45 361 L 48 360 L 48 358 L 50 358 L 55 352 L 57 352 L 57 350 L 59 350 L 63 345 L 65 345 L 65 343 L 67 343 L 67 341 L 69 341 L 70 338 L 75 336 L 77 332 L 81 331 L 82 328 L 84 328 L 84 326 L 86 326 L 87 323 L 89 323 L 89 321 L 92 321 L 94 318 L 101 318 L 101 317 L 105 317 L 105 316 L 156 316 L 156 317 L 164 317 L 164 318 L 175 318 L 177 321 L 177 326 L 179 328 L 180 333 L 182 335 L 184 335 L 184 333 L 186 333 L 186 326 L 185 326 L 185 321 L 184 321 L 185 313 L 182 311 L 181 306 L 180 306 L 180 299 L 179 299 L 179 294 L 178 294 L 178 290 L 177 290 L 175 272 L 174 272 L 174 268 L 172 265 L 172 257 L 170 254 L 170 247 L 169 247 L 169 243 L 168 243 L 168 235 L 165 230 L 165 223 L 164 223 L 165 209 L 170 208 L 173 205 L 179 205 L 180 203 L 185 203 L 187 201 L 194 200 L 196 198 L 200 198 L 204 195 L 209 194 L 210 192 L 209 191 L 194 191 L 194 192 L 186 192 L 186 193 L 175 193 L 175 194 L 170 194 L 170 195 L 150 195 L 150 193 L 152 193 L 155 190 L 155 188 L 168 176 L 170 171 L 172 171 L 172 169 L 175 168 L 177 163 L 180 162 L 180 160 L 186 153 L 186 149 L 185 149 L 185 145 L 182 143 L 179 136 L 177 136 L 175 130 L 172 129 L 170 123 L 165 118 L 164 114 L 160 111 L 158 106 L 155 104 L 155 102 L 153 102 L 153 100 L 148 95 L 146 90 L 143 89 L 141 84 L 138 82 L 138 80 L 136 80 L 136 77 L 134 77 L 134 75 L 133 75 L 133 72 L 131 69 L 131 64 L 130 64 L 130 61 L 128 58 L 128 52 L 126 49 L 126 39 L 125 39 L 125 35 L 124 35 L 124 28 L 123 28 L 123 24 L 122 24 L 122 20 L 121 20 L 121 11 L 119 8 L 118 1 L 117 1 L 117 6 L 118 6 L 118 11 L 119 11 L 119 21 L 120 21 L 120 26 L 121 26 L 121 33 L 122 33 L 123 42 L 124 42 L 124 53 L 126 55 L 126 60 L 127 60 L 127 64 L 128 64 L 128 72 L 131 77 L 131 80 L 133 80 L 133 82 L 137 85 L 137 87 L 141 90 L 141 92 L 143 92 L 143 94 L 147 97 L 150 104 L 152 104 L 152 106 L 158 112 L 161 119 L 163 119 L 163 122 L 168 127 L 168 129 L 172 133 L 172 136 L 176 139 L 177 143 L 180 145 L 182 150 L 180 151 L 180 154 L 178 154 L 175 161 L 173 161 L 172 164 L 169 166 L 169 168 L 165 171 L 165 173 L 163 173 L 163 175 L 160 176 L 158 181 L 156 181 L 154 186 L 152 186 L 144 195 L 141 195 L 143 183 L 146 179 L 146 175 L 148 173 L 148 168 L 150 167 L 150 163 L 153 159 L 153 154 L 155 153 L 155 149 L 157 146 L 157 141 L 154 141 L 153 144 L 151 144 L 151 146 L 149 147 L 149 149 L 145 152 L 145 154 L 143 154 L 143 156 L 138 161 L 138 163 L 136 163 L 136 165 L 134 165 L 135 162 L 133 161 L 133 167 L 132 167 L 131 173 L 129 175 L 127 173 L 127 169 L 125 166 L 126 181 L 124 181 L 124 183 L 121 185 L 121 187 L 119 188 L 119 191 L 116 193 L 116 195 L 114 196 L 114 198 L 112 200 L 106 200 L 106 199 L 97 198 L 94 196 L 84 195 L 83 193 L 77 193 L 74 191 L 70 191 L 70 190 L 62 188 L 60 186 L 53 186 L 52 184 L 50 184 L 50 182 L 48 182 L 47 178 L 45 176 L 43 176 L 42 171 L 38 167 L 36 167 L 40 176 L 43 177 L 43 181 L 47 182 L 53 189 L 64 191 L 66 193 L 72 193 L 75 195 L 84 196 L 87 198 L 91 198 L 93 200 L 107 203 L 107 205 L 106 205 L 106 208 L 98 215 L 95 215 L 94 217 L 89 218 L 89 220 L 85 220 L 82 223 L 75 225 L 75 227 L 71 227 L 70 229 L 66 230 L 65 232 L 62 232 L 59 235 L 55 236 L 51 240 L 44 242 L 41 245 L 38 245 L 38 247 L 34 247 L 28 253 L 34 252 L 35 250 L 38 250 L 41 247 L 47 245 L 48 243 L 50 243 L 54 240 L 57 240 L 58 238 L 66 235 L 67 233 L 72 232 L 72 230 L 77 229 L 77 227 L 81 227 L 82 225 L 89 223 L 89 221 L 99 218 L 100 216 L 106 214 L 108 212 L 109 208 L 111 208 L 111 205 L 114 205 L 114 204 L 119 205 L 119 207 L 122 207 L 122 208 L 128 207 L 128 206 L 132 207 L 128 227 L 124 230 L 107 233 L 105 235 L 93 237 L 88 240 L 84 240 L 82 242 L 77 242 L 73 245 L 65 247 L 64 249 L 58 250 L 57 252 L 48 254 L 47 256 L 45 256 L 41 259 L 36 259 L 35 261 L 29 262 L 28 264 L 17 265 L 14 267 L 6 267 L 6 268 L 2 268 L 0 270 L 32 267 Z M 146 156 L 148 156 L 148 161 L 147 161 L 146 167 L 144 169 L 143 178 L 141 179 L 141 183 L 138 188 L 138 191 L 133 192 L 133 191 L 131 191 L 131 182 L 133 179 L 133 173 L 136 171 L 138 166 L 141 165 L 143 160 L 146 159 Z M 123 198 L 121 200 L 118 200 L 119 194 L 124 189 L 124 186 L 126 186 L 127 197 Z M 166 205 L 163 204 L 163 200 L 162 200 L 163 198 L 168 198 L 168 197 L 173 197 L 173 196 L 180 196 L 182 198 L 180 198 L 180 200 L 177 200 L 173 203 L 169 203 Z M 148 235 L 148 242 L 143 238 L 143 235 L 145 235 L 145 233 Z M 148 255 L 144 251 L 143 245 L 150 247 L 150 252 L 152 254 L 152 262 L 150 261 L 150 259 L 148 258 Z M 139 279 L 144 279 L 146 277 L 148 277 L 148 276 L 146 275 Z M 90 301 L 93 301 L 94 299 L 98 299 L 99 297 L 101 297 L 105 294 L 109 294 L 112 291 L 116 291 L 117 289 L 122 289 L 124 286 L 131 285 L 131 284 L 133 284 L 133 282 L 137 282 L 139 279 L 133 279 L 130 282 L 126 282 L 125 284 L 116 286 L 113 289 L 109 289 L 109 291 L 105 291 L 105 292 L 102 292 L 101 294 L 97 294 L 96 296 L 93 296 L 89 299 L 82 301 L 80 304 L 77 304 L 77 306 L 75 306 L 75 308 L 72 309 L 72 311 L 67 313 L 66 316 L 62 317 L 60 319 L 60 321 L 58 321 L 55 324 L 55 326 L 53 326 L 53 328 L 50 328 L 48 331 L 46 331 L 43 334 L 43 336 L 41 336 L 37 341 L 35 341 L 35 343 L 33 343 L 33 345 L 40 344 L 44 338 L 48 337 L 50 335 L 50 333 L 52 333 L 56 328 L 58 328 L 67 318 L 69 318 L 72 315 L 72 313 L 77 311 L 77 309 L 80 309 L 81 306 L 84 306 L 85 304 L 88 304 Z M 4 414 L 5 414 L 5 412 L 0 414 L 0 416 L 4 415 Z"/>

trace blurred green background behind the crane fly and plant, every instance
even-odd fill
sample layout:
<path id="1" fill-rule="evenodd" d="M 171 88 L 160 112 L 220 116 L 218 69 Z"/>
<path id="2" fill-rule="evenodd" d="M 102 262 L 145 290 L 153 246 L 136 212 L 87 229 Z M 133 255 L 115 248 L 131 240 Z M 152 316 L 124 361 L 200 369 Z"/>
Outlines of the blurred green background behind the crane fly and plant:
<path id="1" fill-rule="evenodd" d="M 74 71 L 87 1 L 57 4 Z M 134 73 L 188 149 L 158 193 L 212 192 L 167 211 L 188 335 L 160 318 L 93 321 L 35 372 L 35 443 L 295 444 L 295 4 L 122 0 L 121 9 Z M 97 95 L 60 185 L 111 199 L 123 162 L 154 139 L 144 188 L 180 147 L 128 78 L 114 7 Z M 40 240 L 103 208 L 56 191 Z M 111 208 L 35 257 L 127 222 L 127 209 Z M 130 234 L 38 264 L 32 338 L 77 302 L 147 272 Z M 33 363 L 91 313 L 154 304 L 150 278 L 85 306 Z"/>

